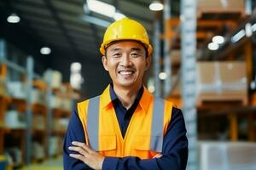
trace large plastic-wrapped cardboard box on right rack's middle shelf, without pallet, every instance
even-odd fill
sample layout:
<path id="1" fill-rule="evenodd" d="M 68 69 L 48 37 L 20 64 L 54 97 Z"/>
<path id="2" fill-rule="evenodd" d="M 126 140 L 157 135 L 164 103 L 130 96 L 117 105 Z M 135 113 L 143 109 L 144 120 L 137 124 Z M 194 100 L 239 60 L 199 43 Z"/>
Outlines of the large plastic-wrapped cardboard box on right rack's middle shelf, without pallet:
<path id="1" fill-rule="evenodd" d="M 247 95 L 246 64 L 243 61 L 197 62 L 198 94 Z"/>

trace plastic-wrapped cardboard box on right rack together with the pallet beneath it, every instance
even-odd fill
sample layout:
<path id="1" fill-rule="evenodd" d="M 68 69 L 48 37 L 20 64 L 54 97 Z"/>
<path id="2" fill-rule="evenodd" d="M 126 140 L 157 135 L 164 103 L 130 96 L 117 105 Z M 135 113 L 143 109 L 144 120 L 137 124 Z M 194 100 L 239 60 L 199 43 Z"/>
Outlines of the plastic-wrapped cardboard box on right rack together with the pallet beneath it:
<path id="1" fill-rule="evenodd" d="M 241 101 L 247 105 L 247 74 L 243 61 L 198 62 L 197 105 L 203 101 Z"/>

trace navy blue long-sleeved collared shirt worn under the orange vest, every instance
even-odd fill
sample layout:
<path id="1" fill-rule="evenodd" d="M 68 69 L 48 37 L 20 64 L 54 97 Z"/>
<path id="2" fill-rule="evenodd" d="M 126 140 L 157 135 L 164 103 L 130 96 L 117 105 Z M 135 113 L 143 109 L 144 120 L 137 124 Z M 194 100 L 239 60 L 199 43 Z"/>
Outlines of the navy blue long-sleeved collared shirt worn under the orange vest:
<path id="1" fill-rule="evenodd" d="M 113 102 L 113 107 L 119 121 L 123 137 L 125 136 L 126 129 L 131 121 L 131 116 L 137 108 L 138 102 L 143 95 L 143 88 L 140 88 L 137 98 L 133 105 L 128 110 L 121 104 L 117 95 L 110 86 L 110 96 Z M 163 141 L 163 151 L 160 158 L 153 158 L 141 160 L 135 156 L 120 157 L 105 157 L 102 169 L 108 170 L 125 170 L 125 169 L 145 169 L 145 170 L 185 170 L 188 160 L 188 139 L 186 137 L 185 122 L 181 110 L 172 108 L 172 119 L 167 128 L 166 135 Z M 79 120 L 78 112 L 73 111 L 73 115 L 68 124 L 67 133 L 63 145 L 63 162 L 65 170 L 82 170 L 91 169 L 83 161 L 79 161 L 69 156 L 72 153 L 68 150 L 72 141 L 77 140 L 80 142 L 85 141 L 84 129 Z"/>

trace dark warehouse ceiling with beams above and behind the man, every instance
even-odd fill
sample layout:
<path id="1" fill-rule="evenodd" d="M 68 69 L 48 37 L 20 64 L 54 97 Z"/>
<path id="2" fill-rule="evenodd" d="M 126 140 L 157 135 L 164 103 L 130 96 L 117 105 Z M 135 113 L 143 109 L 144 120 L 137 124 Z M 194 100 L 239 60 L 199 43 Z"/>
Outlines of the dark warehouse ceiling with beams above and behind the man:
<path id="1" fill-rule="evenodd" d="M 32 54 L 36 62 L 35 69 L 39 74 L 50 67 L 61 71 L 64 80 L 68 81 L 70 64 L 80 62 L 83 65 L 85 86 L 96 88 L 99 84 L 98 80 L 108 82 L 106 73 L 102 73 L 104 71 L 99 47 L 106 25 L 108 26 L 113 20 L 102 14 L 84 10 L 85 2 L 85 0 L 1 0 L 0 37 L 26 51 L 27 54 Z M 122 14 L 141 22 L 147 28 L 149 37 L 152 37 L 154 12 L 148 8 L 151 1 L 102 0 L 102 2 L 113 4 Z M 178 4 L 177 7 L 173 9 L 173 13 L 178 13 Z M 6 21 L 12 13 L 20 16 L 18 24 L 10 24 Z M 95 22 L 96 24 L 92 24 Z M 51 54 L 40 54 L 40 48 L 44 46 L 51 48 Z M 96 80 L 95 77 L 99 79 Z"/>

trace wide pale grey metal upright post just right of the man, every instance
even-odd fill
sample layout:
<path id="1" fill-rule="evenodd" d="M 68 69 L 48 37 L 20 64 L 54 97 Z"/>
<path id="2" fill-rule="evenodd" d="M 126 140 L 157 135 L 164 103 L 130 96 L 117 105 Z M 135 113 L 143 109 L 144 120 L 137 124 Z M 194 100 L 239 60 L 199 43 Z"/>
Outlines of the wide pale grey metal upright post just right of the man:
<path id="1" fill-rule="evenodd" d="M 197 118 L 196 118 L 196 25 L 197 0 L 181 1 L 182 89 L 183 114 L 189 139 L 187 170 L 198 170 Z"/>

